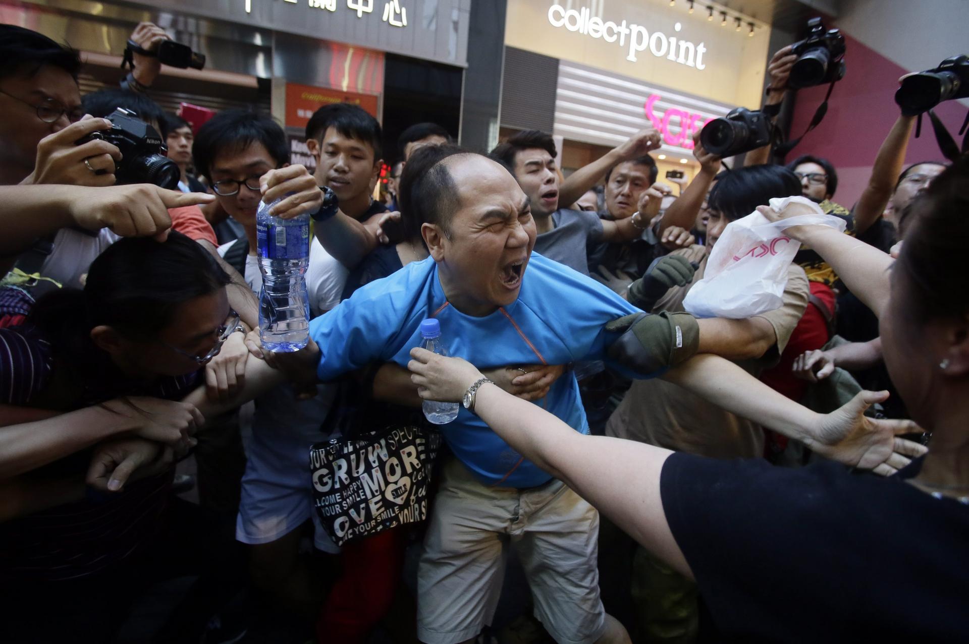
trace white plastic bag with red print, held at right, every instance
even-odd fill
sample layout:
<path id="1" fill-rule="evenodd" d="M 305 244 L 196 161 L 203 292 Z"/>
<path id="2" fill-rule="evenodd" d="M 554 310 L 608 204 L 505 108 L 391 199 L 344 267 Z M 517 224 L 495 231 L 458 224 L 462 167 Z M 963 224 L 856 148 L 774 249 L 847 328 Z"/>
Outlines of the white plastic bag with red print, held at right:
<path id="1" fill-rule="evenodd" d="M 727 225 L 710 252 L 703 279 L 683 300 L 687 312 L 698 318 L 740 320 L 780 308 L 788 266 L 800 248 L 800 242 L 785 237 L 783 230 L 807 225 L 845 230 L 844 220 L 824 214 L 810 199 L 770 199 L 769 205 L 780 211 L 789 203 L 808 205 L 815 214 L 770 222 L 755 210 Z"/>

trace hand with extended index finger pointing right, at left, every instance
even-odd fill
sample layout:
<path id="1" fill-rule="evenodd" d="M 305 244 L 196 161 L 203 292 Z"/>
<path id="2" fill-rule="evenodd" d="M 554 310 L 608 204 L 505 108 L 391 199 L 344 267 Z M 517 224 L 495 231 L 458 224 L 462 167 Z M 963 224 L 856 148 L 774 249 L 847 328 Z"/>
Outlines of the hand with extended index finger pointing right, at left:
<path id="1" fill-rule="evenodd" d="M 113 176 L 113 175 L 112 175 Z M 213 195 L 180 193 L 142 183 L 110 188 L 83 188 L 72 192 L 68 209 L 82 229 L 107 228 L 122 237 L 159 236 L 172 228 L 169 208 L 213 201 Z"/>

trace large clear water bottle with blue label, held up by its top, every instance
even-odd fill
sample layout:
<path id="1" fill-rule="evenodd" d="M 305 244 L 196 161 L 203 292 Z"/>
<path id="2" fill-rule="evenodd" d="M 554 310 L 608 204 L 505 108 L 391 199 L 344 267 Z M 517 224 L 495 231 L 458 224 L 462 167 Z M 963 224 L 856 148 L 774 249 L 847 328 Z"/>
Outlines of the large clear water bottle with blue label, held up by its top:
<path id="1" fill-rule="evenodd" d="M 263 290 L 259 294 L 259 329 L 263 347 L 273 353 L 299 351 L 309 342 L 309 215 L 280 219 L 269 214 L 279 203 L 260 201 L 256 245 Z"/>

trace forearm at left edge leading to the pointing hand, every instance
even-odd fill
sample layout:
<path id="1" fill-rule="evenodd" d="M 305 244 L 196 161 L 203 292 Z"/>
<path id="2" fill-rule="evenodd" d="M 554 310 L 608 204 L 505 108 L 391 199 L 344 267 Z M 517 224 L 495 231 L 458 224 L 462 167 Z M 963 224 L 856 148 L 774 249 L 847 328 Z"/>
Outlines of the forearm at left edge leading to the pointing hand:
<path id="1" fill-rule="evenodd" d="M 74 186 L 0 186 L 0 257 L 16 256 L 41 237 L 74 225 L 69 208 Z"/>

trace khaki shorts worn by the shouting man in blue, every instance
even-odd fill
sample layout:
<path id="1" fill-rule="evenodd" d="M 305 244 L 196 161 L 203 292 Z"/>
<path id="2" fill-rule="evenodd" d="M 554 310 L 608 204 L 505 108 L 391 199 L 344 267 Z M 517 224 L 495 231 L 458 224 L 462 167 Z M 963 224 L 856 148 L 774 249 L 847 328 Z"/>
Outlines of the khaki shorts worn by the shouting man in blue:
<path id="1" fill-rule="evenodd" d="M 457 460 L 444 467 L 418 571 L 418 636 L 427 644 L 475 637 L 494 616 L 515 545 L 535 617 L 560 643 L 606 629 L 596 567 L 599 513 L 559 480 L 526 490 L 487 487 Z"/>

